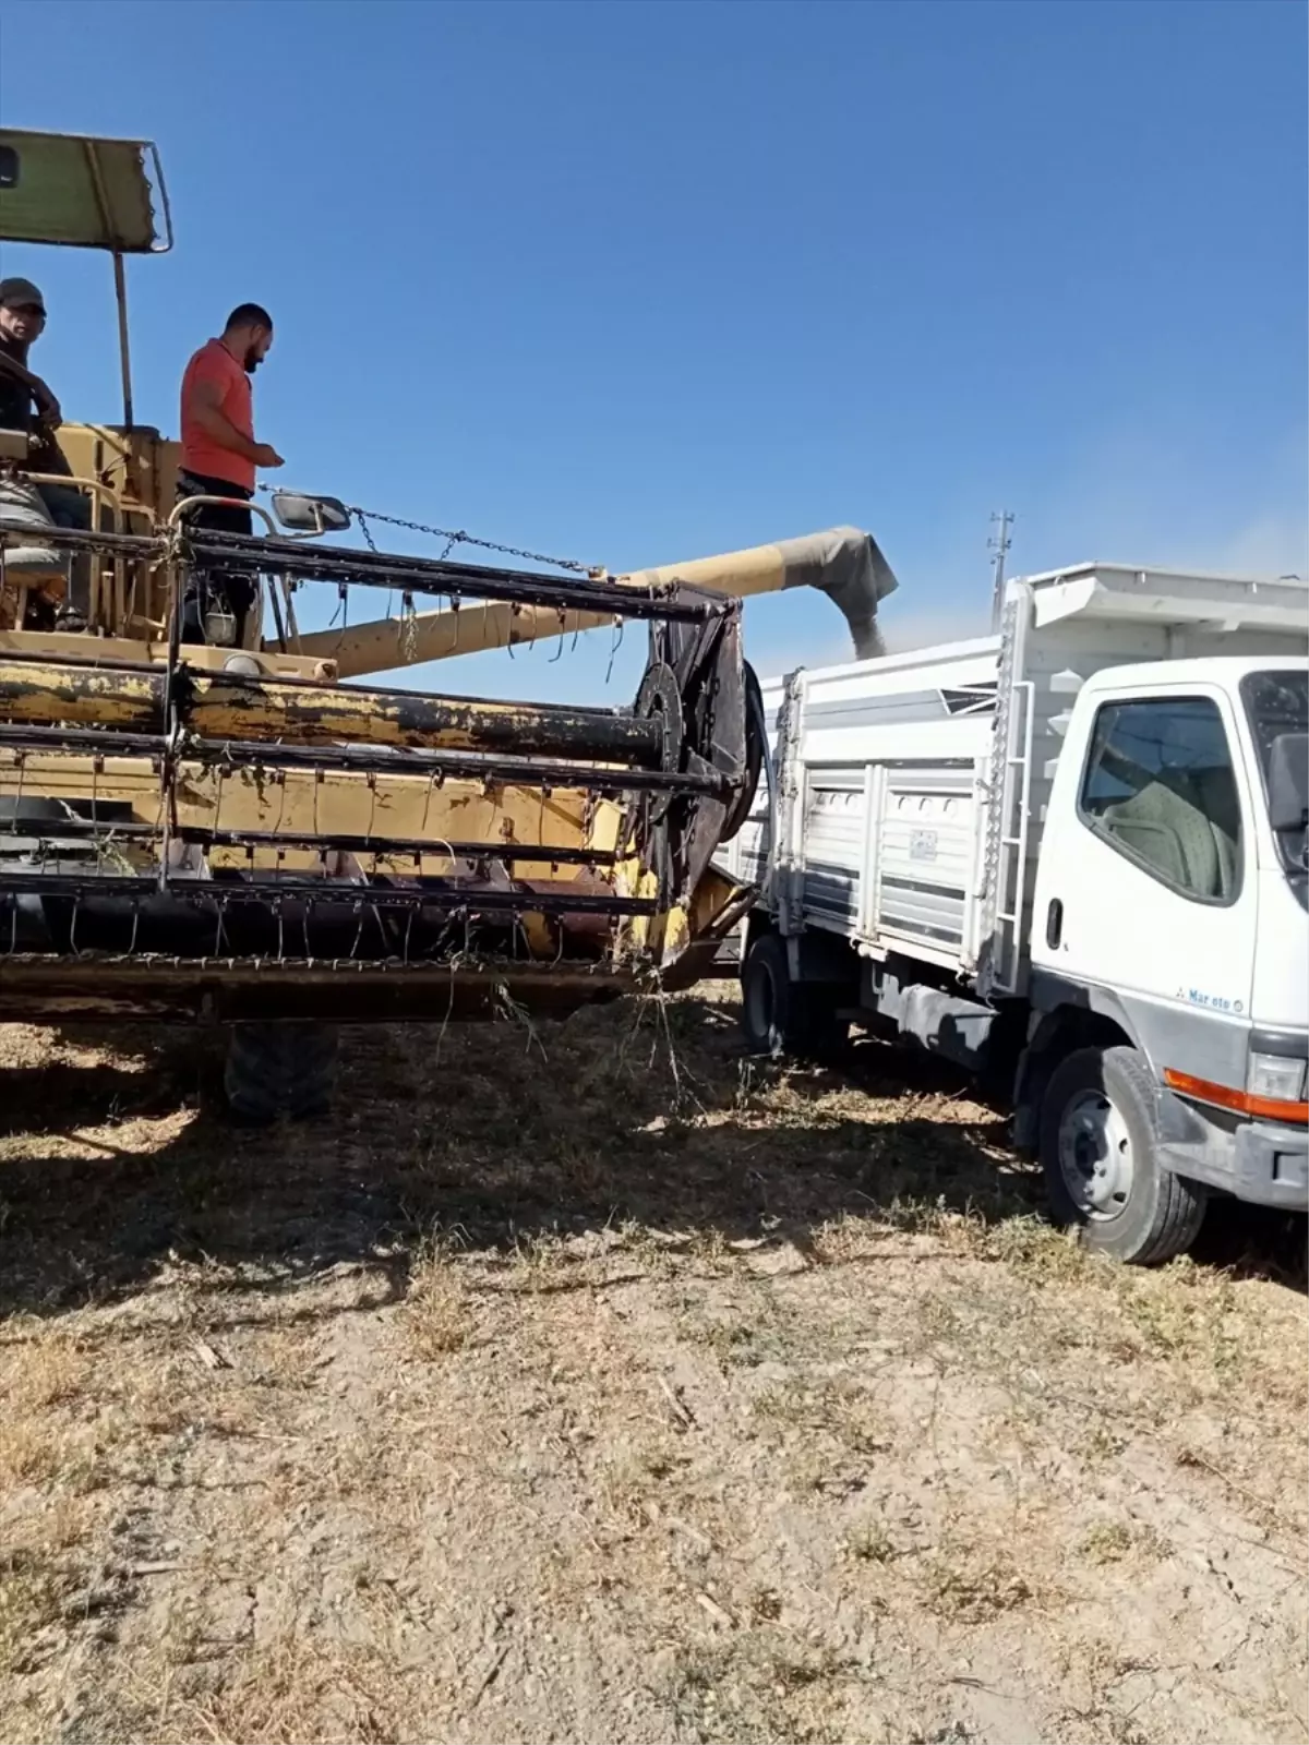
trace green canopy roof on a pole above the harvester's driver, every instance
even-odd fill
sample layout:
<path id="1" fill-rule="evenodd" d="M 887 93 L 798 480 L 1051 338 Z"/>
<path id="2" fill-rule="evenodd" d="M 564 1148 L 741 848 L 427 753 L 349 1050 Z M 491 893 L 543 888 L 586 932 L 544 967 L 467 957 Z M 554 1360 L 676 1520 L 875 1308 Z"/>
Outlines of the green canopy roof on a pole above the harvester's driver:
<path id="1" fill-rule="evenodd" d="M 148 140 L 0 127 L 0 241 L 122 255 L 171 248 L 159 152 Z"/>

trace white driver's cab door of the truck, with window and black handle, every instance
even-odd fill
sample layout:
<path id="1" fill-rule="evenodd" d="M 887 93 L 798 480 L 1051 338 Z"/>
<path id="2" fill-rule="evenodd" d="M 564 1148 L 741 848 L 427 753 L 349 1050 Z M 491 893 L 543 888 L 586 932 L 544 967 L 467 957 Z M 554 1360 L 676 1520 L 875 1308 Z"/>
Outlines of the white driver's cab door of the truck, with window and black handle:
<path id="1" fill-rule="evenodd" d="M 1257 881 L 1237 745 L 1220 691 L 1107 686 L 1079 698 L 1051 790 L 1033 972 L 1117 1005 L 1159 1077 L 1244 1085 Z"/>

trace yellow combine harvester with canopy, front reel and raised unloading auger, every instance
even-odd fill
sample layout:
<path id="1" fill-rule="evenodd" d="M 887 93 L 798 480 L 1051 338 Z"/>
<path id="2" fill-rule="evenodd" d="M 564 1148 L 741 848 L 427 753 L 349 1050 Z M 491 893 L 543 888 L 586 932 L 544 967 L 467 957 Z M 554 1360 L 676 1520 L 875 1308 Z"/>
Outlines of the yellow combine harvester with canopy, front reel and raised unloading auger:
<path id="1" fill-rule="evenodd" d="M 124 382 L 120 426 L 59 431 L 93 530 L 0 511 L 0 1019 L 232 1024 L 229 1098 L 271 1120 L 325 1105 L 335 1021 L 567 1012 L 707 968 L 752 900 L 712 866 L 763 757 L 737 597 L 817 586 L 874 651 L 873 539 L 611 578 L 326 546 L 351 513 L 290 492 L 255 506 L 267 537 L 199 530 L 176 443 L 133 419 L 124 257 L 171 246 L 154 147 L 0 131 L 0 239 L 112 253 Z M 0 431 L 19 492 L 30 436 Z M 86 633 L 49 621 L 70 565 Z M 218 611 L 183 640 L 211 576 L 253 583 L 267 639 L 251 612 L 234 647 Z M 302 635 L 311 588 L 405 609 Z M 340 684 L 618 621 L 649 626 L 630 708 Z"/>

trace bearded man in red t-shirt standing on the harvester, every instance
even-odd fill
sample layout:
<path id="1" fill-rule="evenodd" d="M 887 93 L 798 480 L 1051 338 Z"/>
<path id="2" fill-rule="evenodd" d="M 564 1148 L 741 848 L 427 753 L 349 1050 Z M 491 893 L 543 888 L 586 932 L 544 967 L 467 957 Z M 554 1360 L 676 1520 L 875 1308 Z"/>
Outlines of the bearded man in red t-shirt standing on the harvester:
<path id="1" fill-rule="evenodd" d="M 178 497 L 236 497 L 239 503 L 204 503 L 192 510 L 195 527 L 216 532 L 250 534 L 250 510 L 241 508 L 255 494 L 255 468 L 283 466 L 272 443 L 255 441 L 255 415 L 250 377 L 272 346 L 272 316 L 258 304 L 241 304 L 227 318 L 220 339 L 211 339 L 194 354 L 182 377 L 182 466 Z M 241 647 L 246 618 L 255 604 L 255 583 L 241 574 L 201 578 L 183 614 L 183 640 L 208 642 L 206 632 L 236 618 L 223 640 Z M 223 611 L 227 607 L 227 611 Z"/>

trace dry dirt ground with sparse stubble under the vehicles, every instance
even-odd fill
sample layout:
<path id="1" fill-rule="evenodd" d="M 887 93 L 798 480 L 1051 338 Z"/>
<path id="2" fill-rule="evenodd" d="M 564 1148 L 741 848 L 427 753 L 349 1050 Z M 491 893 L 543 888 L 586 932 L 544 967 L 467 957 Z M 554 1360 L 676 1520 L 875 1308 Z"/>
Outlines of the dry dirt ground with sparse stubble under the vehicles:
<path id="1" fill-rule="evenodd" d="M 0 1031 L 9 1745 L 1306 1745 L 1309 1251 L 1155 1274 L 730 1003 Z"/>

